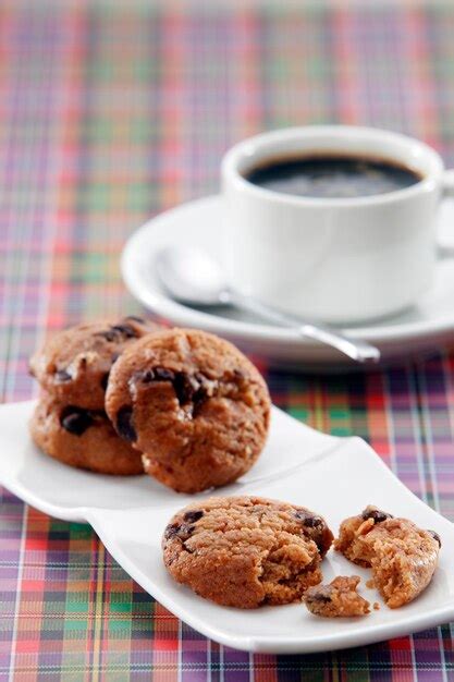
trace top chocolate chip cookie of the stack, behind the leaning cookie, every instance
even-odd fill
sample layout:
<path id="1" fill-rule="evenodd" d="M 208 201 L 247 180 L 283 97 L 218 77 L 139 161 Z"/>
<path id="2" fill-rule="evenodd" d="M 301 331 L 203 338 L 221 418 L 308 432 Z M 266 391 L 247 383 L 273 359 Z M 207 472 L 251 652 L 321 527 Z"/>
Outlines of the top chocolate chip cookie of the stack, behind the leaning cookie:
<path id="1" fill-rule="evenodd" d="M 30 360 L 30 373 L 62 402 L 103 410 L 107 379 L 125 348 L 161 329 L 140 317 L 77 325 L 56 333 Z"/>

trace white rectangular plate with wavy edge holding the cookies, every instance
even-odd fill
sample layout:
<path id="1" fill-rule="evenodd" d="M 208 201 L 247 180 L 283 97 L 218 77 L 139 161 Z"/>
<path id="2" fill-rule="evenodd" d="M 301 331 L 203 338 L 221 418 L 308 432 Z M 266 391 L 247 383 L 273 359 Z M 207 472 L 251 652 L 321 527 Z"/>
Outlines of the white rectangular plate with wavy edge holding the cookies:
<path id="1" fill-rule="evenodd" d="M 88 522 L 110 553 L 150 595 L 204 635 L 249 651 L 275 654 L 339 649 L 379 642 L 454 618 L 454 526 L 416 498 L 359 438 L 334 438 L 273 407 L 271 434 L 256 466 L 219 495 L 262 495 L 303 504 L 340 522 L 368 503 L 407 516 L 442 538 L 440 567 L 414 602 L 388 609 L 368 571 L 334 551 L 323 562 L 326 581 L 361 575 L 361 592 L 380 610 L 358 619 L 320 619 L 299 604 L 243 611 L 206 601 L 177 585 L 161 558 L 161 535 L 170 516 L 189 501 L 148 476 L 111 477 L 70 468 L 41 454 L 27 423 L 34 402 L 0 406 L 0 483 L 37 509 L 59 519 Z"/>

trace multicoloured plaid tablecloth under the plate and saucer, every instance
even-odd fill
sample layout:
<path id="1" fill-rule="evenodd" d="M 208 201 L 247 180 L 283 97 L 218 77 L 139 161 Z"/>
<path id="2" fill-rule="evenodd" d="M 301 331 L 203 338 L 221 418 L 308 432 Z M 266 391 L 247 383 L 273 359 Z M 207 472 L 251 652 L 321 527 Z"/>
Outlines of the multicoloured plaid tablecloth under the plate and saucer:
<path id="1" fill-rule="evenodd" d="M 52 329 L 137 310 L 119 275 L 149 216 L 218 187 L 224 149 L 266 129 L 381 125 L 454 162 L 454 4 L 0 3 L 0 386 L 36 388 Z M 366 438 L 454 521 L 454 355 L 367 376 L 283 375 L 277 404 Z M 0 453 L 1 456 L 1 453 Z M 179 622 L 88 526 L 2 491 L 0 679 L 454 680 L 451 625 L 315 656 L 249 656 Z"/>

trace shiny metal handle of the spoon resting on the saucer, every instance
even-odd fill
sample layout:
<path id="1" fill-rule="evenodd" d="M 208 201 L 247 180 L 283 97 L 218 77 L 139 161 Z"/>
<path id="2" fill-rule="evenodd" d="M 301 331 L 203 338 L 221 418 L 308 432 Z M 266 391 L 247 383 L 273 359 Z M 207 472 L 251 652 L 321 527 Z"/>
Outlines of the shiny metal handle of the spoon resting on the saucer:
<path id="1" fill-rule="evenodd" d="M 354 337 L 346 337 L 329 325 L 321 322 L 302 321 L 296 317 L 280 313 L 260 301 L 246 296 L 238 291 L 229 289 L 229 302 L 238 308 L 243 308 L 259 315 L 263 319 L 284 327 L 291 327 L 302 337 L 315 339 L 326 345 L 331 345 L 358 363 L 377 363 L 380 360 L 378 348 Z"/>

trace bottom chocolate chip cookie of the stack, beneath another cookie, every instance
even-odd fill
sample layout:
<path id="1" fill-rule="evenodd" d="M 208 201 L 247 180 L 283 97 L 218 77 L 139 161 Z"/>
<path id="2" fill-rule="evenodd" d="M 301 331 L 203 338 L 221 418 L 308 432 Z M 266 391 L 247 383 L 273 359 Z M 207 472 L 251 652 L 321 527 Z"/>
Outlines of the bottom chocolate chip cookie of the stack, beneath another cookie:
<path id="1" fill-rule="evenodd" d="M 119 438 L 103 411 L 42 395 L 29 426 L 38 448 L 64 464 L 121 476 L 144 473 L 140 453 Z"/>

